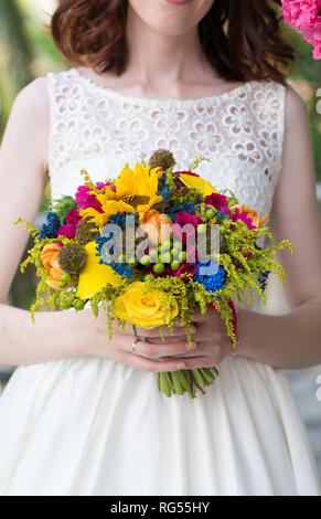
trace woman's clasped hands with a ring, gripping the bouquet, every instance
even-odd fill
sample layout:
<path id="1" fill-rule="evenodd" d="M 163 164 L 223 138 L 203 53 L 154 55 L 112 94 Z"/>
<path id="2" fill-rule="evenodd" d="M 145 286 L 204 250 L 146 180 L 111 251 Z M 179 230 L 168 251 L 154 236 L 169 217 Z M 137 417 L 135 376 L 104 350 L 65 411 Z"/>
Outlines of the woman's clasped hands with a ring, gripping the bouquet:
<path id="1" fill-rule="evenodd" d="M 111 358 L 145 371 L 211 368 L 233 353 L 225 324 L 211 308 L 205 317 L 201 315 L 201 311 L 195 313 L 192 347 L 188 342 L 184 327 L 176 322 L 173 328 L 174 335 L 171 335 L 169 329 L 163 331 L 164 342 L 160 337 L 159 328 L 151 330 L 137 328 L 138 337 L 145 340 L 137 342 L 136 353 L 132 352 L 132 343 L 137 337 L 133 335 L 131 325 L 126 325 L 122 330 L 115 324 L 113 338 L 109 340 L 103 313 L 97 319 L 93 317 L 92 310 L 83 310 L 81 315 L 83 316 L 81 335 L 86 338 L 82 340 L 82 354 Z"/>

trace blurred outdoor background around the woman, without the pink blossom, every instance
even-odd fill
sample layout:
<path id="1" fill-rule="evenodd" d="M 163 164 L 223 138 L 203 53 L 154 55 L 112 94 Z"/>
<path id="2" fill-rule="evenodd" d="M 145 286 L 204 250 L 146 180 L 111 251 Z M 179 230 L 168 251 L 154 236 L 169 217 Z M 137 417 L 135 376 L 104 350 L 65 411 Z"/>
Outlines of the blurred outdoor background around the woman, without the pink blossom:
<path id="1" fill-rule="evenodd" d="M 0 0 L 0 141 L 12 103 L 21 88 L 47 72 L 68 68 L 68 64 L 55 49 L 45 29 L 45 23 L 49 23 L 56 3 L 56 0 Z M 319 106 L 321 105 L 321 60 L 313 60 L 312 47 L 298 32 L 290 28 L 286 28 L 286 32 L 298 53 L 298 64 L 289 83 L 303 97 L 309 112 L 315 158 L 315 189 L 321 210 L 321 115 L 317 112 L 318 100 Z M 49 198 L 50 186 L 45 191 L 39 222 L 43 220 Z M 26 271 L 26 275 L 18 272 L 8 303 L 28 309 L 34 298 L 35 283 L 32 268 Z M 263 311 L 270 314 L 287 311 L 282 288 L 275 279 L 269 283 L 268 306 L 263 308 Z M 10 374 L 10 370 L 0 367 L 2 389 Z M 321 385 L 321 366 L 309 370 L 287 371 L 286 374 L 307 425 L 321 474 L 321 402 L 317 400 L 317 383 Z"/>

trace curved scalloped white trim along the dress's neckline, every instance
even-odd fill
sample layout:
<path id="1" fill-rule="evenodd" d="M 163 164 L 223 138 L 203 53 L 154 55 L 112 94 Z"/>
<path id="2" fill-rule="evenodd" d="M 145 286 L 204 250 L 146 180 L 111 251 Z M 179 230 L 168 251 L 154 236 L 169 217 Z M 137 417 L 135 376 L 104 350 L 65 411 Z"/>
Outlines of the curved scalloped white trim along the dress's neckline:
<path id="1" fill-rule="evenodd" d="M 96 83 L 94 80 L 90 77 L 86 76 L 83 74 L 77 67 L 73 68 L 77 77 L 83 80 L 85 83 L 90 85 L 93 88 L 96 88 L 97 91 L 104 93 L 105 95 L 109 95 L 109 97 L 114 97 L 115 99 L 127 102 L 127 103 L 135 103 L 135 104 L 141 104 L 141 105 L 147 105 L 147 104 L 154 104 L 154 105 L 170 105 L 170 104 L 178 104 L 181 106 L 191 106 L 195 104 L 207 104 L 207 103 L 213 103 L 213 102 L 220 102 L 224 100 L 226 98 L 229 98 L 229 96 L 233 95 L 238 95 L 242 93 L 246 93 L 249 91 L 252 87 L 253 83 L 256 83 L 256 80 L 248 81 L 247 83 L 236 86 L 235 88 L 232 88 L 228 92 L 223 92 L 222 94 L 216 94 L 212 96 L 205 96 L 205 97 L 196 97 L 194 99 L 186 98 L 170 98 L 170 99 L 157 99 L 154 97 L 138 97 L 138 96 L 131 96 L 128 94 L 121 94 L 120 92 L 114 91 L 113 88 L 109 88 L 108 86 L 99 85 Z"/>

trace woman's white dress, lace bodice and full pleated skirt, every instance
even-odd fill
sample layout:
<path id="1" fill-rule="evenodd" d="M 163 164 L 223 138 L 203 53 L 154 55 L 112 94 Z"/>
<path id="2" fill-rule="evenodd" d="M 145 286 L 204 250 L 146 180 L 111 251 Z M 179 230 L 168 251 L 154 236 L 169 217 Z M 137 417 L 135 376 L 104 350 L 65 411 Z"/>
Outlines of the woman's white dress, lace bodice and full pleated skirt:
<path id="1" fill-rule="evenodd" d="M 103 181 L 168 148 L 176 170 L 202 153 L 211 162 L 199 172 L 217 189 L 270 212 L 285 87 L 253 81 L 220 96 L 158 100 L 76 68 L 47 81 L 53 198 L 75 193 L 81 168 Z M 231 357 L 194 400 L 160 394 L 157 377 L 95 357 L 17 368 L 0 398 L 0 494 L 321 495 L 281 371 Z"/>

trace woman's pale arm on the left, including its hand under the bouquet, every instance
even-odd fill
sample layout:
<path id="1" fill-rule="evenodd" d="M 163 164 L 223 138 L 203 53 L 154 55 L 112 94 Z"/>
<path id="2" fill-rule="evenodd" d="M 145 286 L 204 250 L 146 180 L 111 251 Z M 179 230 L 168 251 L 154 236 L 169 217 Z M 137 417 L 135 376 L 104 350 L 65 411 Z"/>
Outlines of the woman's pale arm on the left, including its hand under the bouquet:
<path id="1" fill-rule="evenodd" d="M 124 333 L 116 326 L 113 340 L 108 340 L 103 313 L 95 319 L 92 310 L 79 314 L 38 311 L 33 325 L 29 311 L 4 304 L 28 241 L 23 226 L 13 226 L 13 222 L 19 216 L 34 221 L 47 182 L 49 113 L 46 80 L 39 78 L 17 97 L 0 148 L 0 364 L 98 356 L 147 371 L 175 370 L 176 361 L 160 363 L 133 354 L 131 327 Z M 140 330 L 140 335 L 147 337 L 157 333 L 157 330 Z M 162 352 L 185 349 L 183 342 L 162 349 Z M 154 351 L 142 345 L 140 354 L 152 357 Z"/>

